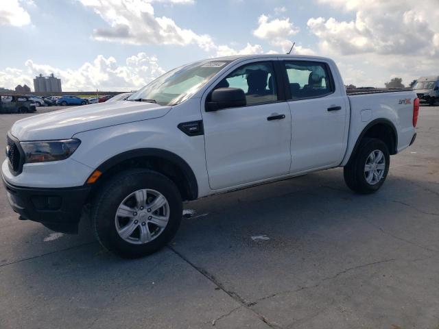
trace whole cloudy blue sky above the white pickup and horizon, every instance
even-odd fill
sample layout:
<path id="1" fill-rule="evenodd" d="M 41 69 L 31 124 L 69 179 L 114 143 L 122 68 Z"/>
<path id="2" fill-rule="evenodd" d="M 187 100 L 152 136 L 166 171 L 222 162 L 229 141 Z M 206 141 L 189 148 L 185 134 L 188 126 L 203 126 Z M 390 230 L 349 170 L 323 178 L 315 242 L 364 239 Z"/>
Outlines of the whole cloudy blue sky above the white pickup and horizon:
<path id="1" fill-rule="evenodd" d="M 217 56 L 333 58 L 344 84 L 439 75 L 439 0 L 0 0 L 0 87 L 136 90 Z"/>

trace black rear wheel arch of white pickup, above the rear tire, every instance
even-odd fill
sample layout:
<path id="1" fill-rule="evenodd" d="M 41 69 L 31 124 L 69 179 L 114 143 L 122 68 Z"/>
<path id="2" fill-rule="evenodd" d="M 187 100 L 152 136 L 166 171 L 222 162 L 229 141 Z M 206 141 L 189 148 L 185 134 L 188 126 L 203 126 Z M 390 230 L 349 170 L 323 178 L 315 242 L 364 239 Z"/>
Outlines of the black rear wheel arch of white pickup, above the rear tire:
<path id="1" fill-rule="evenodd" d="M 392 121 L 388 119 L 375 119 L 370 121 L 359 134 L 357 141 L 352 149 L 349 161 L 357 151 L 363 138 L 378 138 L 387 145 L 390 155 L 398 153 L 398 133 Z"/>

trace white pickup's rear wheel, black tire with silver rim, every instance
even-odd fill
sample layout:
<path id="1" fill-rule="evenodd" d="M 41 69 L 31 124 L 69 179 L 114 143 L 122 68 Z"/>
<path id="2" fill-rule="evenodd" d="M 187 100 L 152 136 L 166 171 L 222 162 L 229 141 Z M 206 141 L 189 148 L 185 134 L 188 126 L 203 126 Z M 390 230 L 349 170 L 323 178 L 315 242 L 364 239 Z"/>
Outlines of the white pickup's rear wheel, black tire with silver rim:
<path id="1" fill-rule="evenodd" d="M 389 164 L 387 145 L 379 139 L 365 138 L 344 167 L 344 181 L 357 193 L 375 193 L 387 177 Z"/>

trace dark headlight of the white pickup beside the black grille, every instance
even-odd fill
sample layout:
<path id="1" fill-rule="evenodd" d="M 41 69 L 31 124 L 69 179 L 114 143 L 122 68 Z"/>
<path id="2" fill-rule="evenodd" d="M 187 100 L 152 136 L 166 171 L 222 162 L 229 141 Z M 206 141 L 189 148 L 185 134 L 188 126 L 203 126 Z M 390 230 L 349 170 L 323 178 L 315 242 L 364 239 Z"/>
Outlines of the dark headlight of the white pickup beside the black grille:
<path id="1" fill-rule="evenodd" d="M 59 161 L 69 158 L 78 149 L 79 139 L 64 141 L 21 142 L 25 153 L 25 163 Z"/>

